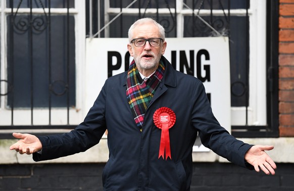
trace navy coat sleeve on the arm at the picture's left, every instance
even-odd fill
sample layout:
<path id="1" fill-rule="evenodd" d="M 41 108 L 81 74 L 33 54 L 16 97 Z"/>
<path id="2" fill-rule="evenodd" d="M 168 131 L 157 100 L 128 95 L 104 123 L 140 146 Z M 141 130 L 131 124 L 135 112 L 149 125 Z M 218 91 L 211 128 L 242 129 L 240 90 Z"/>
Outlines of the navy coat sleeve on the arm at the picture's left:
<path id="1" fill-rule="evenodd" d="M 74 130 L 64 134 L 38 137 L 42 144 L 42 153 L 34 153 L 34 161 L 51 160 L 84 152 L 99 143 L 106 131 L 106 84 L 107 82 L 104 84 L 84 121 Z"/>

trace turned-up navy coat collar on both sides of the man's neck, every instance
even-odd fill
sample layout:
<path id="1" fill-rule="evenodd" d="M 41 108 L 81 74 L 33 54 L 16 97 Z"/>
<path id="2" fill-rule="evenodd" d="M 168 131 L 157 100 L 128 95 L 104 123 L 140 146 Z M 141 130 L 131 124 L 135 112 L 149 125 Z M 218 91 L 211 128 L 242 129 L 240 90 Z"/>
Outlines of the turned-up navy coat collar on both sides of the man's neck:
<path id="1" fill-rule="evenodd" d="M 177 82 L 176 82 L 175 69 L 173 69 L 171 63 L 164 56 L 161 56 L 161 60 L 163 61 L 165 66 L 165 71 L 162 78 L 163 84 L 171 86 L 171 87 L 176 87 Z M 128 71 L 124 72 L 124 77 L 123 77 L 123 80 L 121 81 L 122 86 L 126 85 L 127 74 L 128 74 Z"/>

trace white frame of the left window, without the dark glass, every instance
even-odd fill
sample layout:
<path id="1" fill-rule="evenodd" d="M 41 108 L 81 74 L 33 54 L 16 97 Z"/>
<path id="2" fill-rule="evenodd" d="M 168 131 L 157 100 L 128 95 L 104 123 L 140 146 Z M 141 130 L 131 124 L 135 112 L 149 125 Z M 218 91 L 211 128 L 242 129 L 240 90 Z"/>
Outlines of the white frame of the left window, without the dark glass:
<path id="1" fill-rule="evenodd" d="M 8 85 L 5 83 L 7 79 L 7 17 L 11 12 L 18 14 L 30 14 L 30 8 L 8 8 L 6 1 L 1 1 L 1 24 L 0 24 L 0 37 L 1 37 L 1 94 L 7 93 Z M 32 14 L 48 14 L 48 8 L 32 8 Z M 76 72 L 76 100 L 75 108 L 51 108 L 51 122 L 48 119 L 49 108 L 34 108 L 30 111 L 29 108 L 14 108 L 13 111 L 7 107 L 7 95 L 1 96 L 0 113 L 1 113 L 1 135 L 0 137 L 9 137 L 8 134 L 14 132 L 16 129 L 21 129 L 22 132 L 28 131 L 35 134 L 38 133 L 54 133 L 54 132 L 67 132 L 68 129 L 73 129 L 79 124 L 83 117 L 86 115 L 84 109 L 84 76 L 85 76 L 85 2 L 75 1 L 75 8 L 51 8 L 51 15 L 67 15 L 74 16 L 75 20 L 75 72 Z M 12 114 L 13 112 L 13 114 Z M 33 120 L 31 121 L 31 115 Z M 69 117 L 67 117 L 69 116 Z M 67 118 L 69 118 L 67 120 Z M 44 120 L 45 119 L 45 120 Z M 48 134 L 48 133 L 46 133 Z"/>

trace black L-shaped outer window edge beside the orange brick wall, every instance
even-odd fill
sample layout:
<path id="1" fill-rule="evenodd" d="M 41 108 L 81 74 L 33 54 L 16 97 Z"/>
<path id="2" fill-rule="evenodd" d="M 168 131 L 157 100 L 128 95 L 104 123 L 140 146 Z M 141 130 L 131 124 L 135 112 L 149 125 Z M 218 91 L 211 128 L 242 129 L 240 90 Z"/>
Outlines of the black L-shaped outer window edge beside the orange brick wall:
<path id="1" fill-rule="evenodd" d="M 266 5 L 266 116 L 264 126 L 232 126 L 235 137 L 279 137 L 278 97 L 278 39 L 279 1 L 267 1 Z"/>

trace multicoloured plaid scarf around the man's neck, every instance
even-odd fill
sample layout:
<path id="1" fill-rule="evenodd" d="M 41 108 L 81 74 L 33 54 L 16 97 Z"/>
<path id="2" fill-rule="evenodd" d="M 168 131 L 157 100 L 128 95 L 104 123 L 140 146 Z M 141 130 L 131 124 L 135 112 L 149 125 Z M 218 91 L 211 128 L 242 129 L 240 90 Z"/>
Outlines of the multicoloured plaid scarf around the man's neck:
<path id="1" fill-rule="evenodd" d="M 164 65 L 160 61 L 155 73 L 144 81 L 140 77 L 135 61 L 130 64 L 126 94 L 134 120 L 140 129 L 142 129 L 146 109 L 163 77 L 164 70 Z"/>

